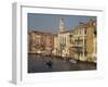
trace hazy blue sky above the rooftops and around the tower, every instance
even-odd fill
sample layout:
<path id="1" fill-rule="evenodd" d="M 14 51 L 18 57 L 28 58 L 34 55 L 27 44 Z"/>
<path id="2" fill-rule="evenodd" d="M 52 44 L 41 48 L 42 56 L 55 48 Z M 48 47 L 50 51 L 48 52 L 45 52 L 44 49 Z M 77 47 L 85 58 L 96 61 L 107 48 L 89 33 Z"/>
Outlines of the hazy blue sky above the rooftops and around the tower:
<path id="1" fill-rule="evenodd" d="M 28 13 L 28 30 L 49 32 L 53 34 L 58 33 L 59 20 L 64 17 L 65 27 L 67 30 L 72 29 L 80 22 L 86 23 L 89 20 L 96 21 L 96 16 L 85 15 L 60 15 L 60 14 L 37 14 Z"/>

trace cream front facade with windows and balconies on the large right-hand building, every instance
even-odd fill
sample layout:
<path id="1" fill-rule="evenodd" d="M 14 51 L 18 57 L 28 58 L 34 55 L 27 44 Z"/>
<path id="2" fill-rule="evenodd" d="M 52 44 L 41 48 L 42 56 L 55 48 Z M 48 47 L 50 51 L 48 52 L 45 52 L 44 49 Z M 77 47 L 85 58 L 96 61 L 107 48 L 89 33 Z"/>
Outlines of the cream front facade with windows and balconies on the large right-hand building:
<path id="1" fill-rule="evenodd" d="M 80 23 L 71 32 L 70 37 L 72 58 L 76 60 L 85 61 L 86 58 L 86 29 L 83 23 Z"/>

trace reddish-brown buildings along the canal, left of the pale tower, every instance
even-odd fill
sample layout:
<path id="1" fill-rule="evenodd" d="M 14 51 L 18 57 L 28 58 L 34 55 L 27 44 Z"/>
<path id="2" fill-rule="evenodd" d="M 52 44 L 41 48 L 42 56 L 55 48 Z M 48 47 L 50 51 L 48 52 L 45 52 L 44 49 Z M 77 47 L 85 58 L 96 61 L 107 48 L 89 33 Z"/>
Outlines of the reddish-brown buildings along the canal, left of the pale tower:
<path id="1" fill-rule="evenodd" d="M 54 36 L 51 33 L 29 32 L 29 53 L 51 53 L 54 50 Z"/>

